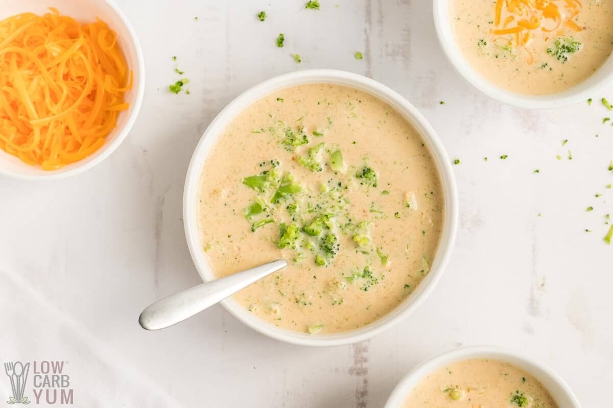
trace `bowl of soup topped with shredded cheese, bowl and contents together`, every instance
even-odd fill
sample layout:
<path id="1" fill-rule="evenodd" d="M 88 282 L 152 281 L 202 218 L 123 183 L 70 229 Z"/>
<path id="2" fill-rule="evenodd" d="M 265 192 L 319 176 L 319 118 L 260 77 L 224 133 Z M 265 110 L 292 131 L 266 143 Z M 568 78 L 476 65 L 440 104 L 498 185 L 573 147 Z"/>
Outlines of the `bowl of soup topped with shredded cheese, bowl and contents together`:
<path id="1" fill-rule="evenodd" d="M 613 84 L 613 3 L 434 0 L 436 33 L 457 72 L 520 108 L 585 102 Z"/>

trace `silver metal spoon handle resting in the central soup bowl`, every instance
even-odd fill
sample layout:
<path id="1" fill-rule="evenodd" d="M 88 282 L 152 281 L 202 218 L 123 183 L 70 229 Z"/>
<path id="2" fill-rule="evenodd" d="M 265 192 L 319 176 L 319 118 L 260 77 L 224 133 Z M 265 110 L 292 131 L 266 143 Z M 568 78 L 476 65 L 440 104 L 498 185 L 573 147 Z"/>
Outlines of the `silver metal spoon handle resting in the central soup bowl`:
<path id="1" fill-rule="evenodd" d="M 172 326 L 286 266 L 286 261 L 277 259 L 225 278 L 205 282 L 168 295 L 147 306 L 139 316 L 139 324 L 147 330 L 159 330 Z"/>

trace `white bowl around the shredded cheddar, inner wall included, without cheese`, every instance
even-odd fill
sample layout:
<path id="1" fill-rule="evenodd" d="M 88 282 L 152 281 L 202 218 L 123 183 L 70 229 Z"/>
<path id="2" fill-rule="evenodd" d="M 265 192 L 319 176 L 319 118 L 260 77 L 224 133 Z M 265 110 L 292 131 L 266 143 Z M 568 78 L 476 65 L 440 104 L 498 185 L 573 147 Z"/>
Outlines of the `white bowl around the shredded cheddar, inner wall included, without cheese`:
<path id="1" fill-rule="evenodd" d="M 143 102 L 145 93 L 145 62 L 140 48 L 139 39 L 132 29 L 128 18 L 111 0 L 0 0 L 0 20 L 18 13 L 32 12 L 38 15 L 49 12 L 47 7 L 55 7 L 63 15 L 86 23 L 101 18 L 109 27 L 117 32 L 117 42 L 126 57 L 128 67 L 134 71 L 134 86 L 124 94 L 125 102 L 130 108 L 122 111 L 117 119 L 116 127 L 107 136 L 104 145 L 94 154 L 61 169 L 44 171 L 40 168 L 26 165 L 17 157 L 0 149 L 0 174 L 19 179 L 52 180 L 74 176 L 93 168 L 117 149 L 123 139 L 128 136 Z"/>

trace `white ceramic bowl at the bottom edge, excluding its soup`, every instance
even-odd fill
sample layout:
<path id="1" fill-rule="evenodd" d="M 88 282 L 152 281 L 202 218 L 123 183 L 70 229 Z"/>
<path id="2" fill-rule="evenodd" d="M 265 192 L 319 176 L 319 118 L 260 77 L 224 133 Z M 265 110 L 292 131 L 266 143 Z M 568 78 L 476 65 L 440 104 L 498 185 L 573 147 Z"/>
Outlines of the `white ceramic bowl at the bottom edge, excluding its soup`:
<path id="1" fill-rule="evenodd" d="M 581 404 L 579 404 L 573 391 L 557 376 L 557 374 L 551 371 L 551 369 L 528 358 L 523 352 L 492 346 L 462 347 L 441 354 L 417 366 L 417 368 L 413 369 L 409 374 L 406 374 L 398 385 L 396 385 L 389 399 L 387 399 L 385 408 L 403 408 L 406 396 L 428 374 L 451 363 L 460 360 L 468 360 L 469 358 L 489 358 L 511 363 L 535 376 L 535 378 L 543 384 L 543 387 L 549 391 L 550 395 L 554 397 L 558 407 L 581 408 Z"/>

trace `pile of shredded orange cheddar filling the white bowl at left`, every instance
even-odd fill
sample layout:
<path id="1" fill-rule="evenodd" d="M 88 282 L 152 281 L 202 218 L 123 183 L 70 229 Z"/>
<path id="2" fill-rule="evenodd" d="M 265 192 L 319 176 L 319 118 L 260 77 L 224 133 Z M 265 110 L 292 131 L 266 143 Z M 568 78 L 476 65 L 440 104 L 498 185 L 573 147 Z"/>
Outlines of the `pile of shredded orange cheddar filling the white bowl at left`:
<path id="1" fill-rule="evenodd" d="M 99 149 L 133 81 L 104 21 L 50 10 L 0 21 L 0 148 L 44 170 Z"/>

